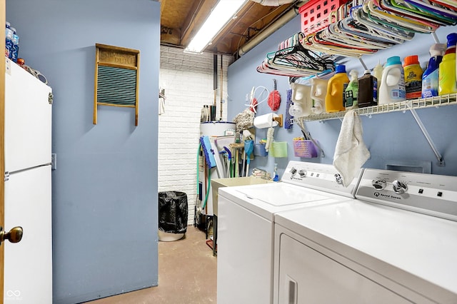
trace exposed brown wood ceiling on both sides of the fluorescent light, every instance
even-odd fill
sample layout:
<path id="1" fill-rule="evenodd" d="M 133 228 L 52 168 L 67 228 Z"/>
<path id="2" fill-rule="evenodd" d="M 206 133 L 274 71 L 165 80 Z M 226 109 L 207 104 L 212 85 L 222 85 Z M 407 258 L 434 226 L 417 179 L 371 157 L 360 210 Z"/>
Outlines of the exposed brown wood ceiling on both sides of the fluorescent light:
<path id="1" fill-rule="evenodd" d="M 199 30 L 217 0 L 160 0 L 160 2 L 161 44 L 184 48 Z M 239 11 L 237 18 L 229 21 L 229 24 L 204 51 L 215 54 L 236 54 L 241 46 L 271 26 L 287 11 L 296 9 L 298 12 L 297 2 L 301 1 L 281 6 L 263 6 L 248 1 Z"/>

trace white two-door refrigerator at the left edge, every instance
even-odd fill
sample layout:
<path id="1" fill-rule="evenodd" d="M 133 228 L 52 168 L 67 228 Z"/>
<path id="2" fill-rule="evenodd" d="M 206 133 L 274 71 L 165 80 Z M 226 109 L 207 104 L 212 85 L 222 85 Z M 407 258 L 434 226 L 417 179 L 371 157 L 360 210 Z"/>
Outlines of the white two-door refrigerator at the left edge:
<path id="1" fill-rule="evenodd" d="M 52 303 L 51 88 L 6 59 L 4 303 Z"/>

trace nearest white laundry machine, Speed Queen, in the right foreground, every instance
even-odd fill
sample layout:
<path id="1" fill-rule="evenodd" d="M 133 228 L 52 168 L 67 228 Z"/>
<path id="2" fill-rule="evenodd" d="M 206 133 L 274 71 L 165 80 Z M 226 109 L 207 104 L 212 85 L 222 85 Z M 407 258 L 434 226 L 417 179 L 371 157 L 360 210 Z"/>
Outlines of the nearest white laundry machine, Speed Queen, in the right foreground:
<path id="1" fill-rule="evenodd" d="M 457 177 L 365 169 L 356 198 L 276 215 L 273 303 L 457 303 Z"/>

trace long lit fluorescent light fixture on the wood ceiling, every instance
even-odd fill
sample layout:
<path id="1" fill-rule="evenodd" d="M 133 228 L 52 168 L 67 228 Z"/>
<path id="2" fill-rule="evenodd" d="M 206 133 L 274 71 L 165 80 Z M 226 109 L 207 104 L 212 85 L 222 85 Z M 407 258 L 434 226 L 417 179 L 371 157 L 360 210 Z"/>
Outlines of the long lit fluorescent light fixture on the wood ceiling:
<path id="1" fill-rule="evenodd" d="M 246 0 L 219 0 L 184 51 L 201 53 L 245 3 Z"/>

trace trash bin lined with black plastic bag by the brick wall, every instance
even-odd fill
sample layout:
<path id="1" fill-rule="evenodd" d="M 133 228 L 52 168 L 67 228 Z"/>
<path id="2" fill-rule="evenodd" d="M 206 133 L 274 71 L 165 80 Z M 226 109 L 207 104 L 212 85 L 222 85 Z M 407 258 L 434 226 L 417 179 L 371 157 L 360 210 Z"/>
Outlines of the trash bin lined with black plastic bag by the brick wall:
<path id="1" fill-rule="evenodd" d="M 159 240 L 184 237 L 187 230 L 187 195 L 181 191 L 159 192 Z"/>

